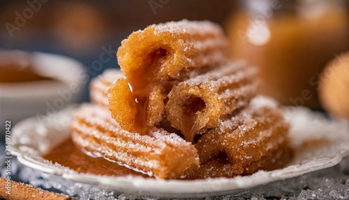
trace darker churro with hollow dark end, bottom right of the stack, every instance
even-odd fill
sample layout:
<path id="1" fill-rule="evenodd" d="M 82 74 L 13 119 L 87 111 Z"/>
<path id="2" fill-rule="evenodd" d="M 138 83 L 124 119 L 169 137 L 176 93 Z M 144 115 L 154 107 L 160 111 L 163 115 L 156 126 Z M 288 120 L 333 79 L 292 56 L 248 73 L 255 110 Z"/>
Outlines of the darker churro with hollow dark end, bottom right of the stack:
<path id="1" fill-rule="evenodd" d="M 202 136 L 195 148 L 200 157 L 195 178 L 232 177 L 260 169 L 278 169 L 292 157 L 288 122 L 282 110 L 253 104 Z"/>

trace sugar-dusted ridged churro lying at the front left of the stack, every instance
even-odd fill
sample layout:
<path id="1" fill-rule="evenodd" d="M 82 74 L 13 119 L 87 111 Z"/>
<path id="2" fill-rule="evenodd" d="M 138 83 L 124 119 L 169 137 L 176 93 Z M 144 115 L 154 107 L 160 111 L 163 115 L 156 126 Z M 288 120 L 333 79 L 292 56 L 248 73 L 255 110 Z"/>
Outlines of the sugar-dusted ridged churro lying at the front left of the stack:
<path id="1" fill-rule="evenodd" d="M 83 150 L 156 178 L 181 178 L 198 167 L 198 153 L 191 143 L 161 130 L 149 136 L 125 131 L 101 106 L 82 105 L 70 127 L 73 142 Z"/>

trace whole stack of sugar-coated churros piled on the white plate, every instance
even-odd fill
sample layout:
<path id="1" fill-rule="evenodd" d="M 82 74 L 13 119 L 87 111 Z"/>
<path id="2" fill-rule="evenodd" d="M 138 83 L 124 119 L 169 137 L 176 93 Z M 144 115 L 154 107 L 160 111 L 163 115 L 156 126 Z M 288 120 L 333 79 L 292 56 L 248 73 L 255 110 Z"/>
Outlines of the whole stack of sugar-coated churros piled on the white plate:
<path id="1" fill-rule="evenodd" d="M 156 178 L 212 178 L 284 166 L 288 123 L 255 106 L 255 70 L 226 55 L 211 22 L 168 22 L 133 32 L 121 71 L 91 83 L 94 104 L 75 111 L 75 145 Z"/>

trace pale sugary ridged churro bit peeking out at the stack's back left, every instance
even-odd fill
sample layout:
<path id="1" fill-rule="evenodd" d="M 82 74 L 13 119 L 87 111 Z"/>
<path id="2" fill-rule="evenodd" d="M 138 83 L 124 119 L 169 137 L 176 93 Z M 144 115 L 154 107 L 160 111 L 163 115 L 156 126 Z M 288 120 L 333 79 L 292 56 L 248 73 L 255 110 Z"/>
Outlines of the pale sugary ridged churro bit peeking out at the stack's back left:
<path id="1" fill-rule="evenodd" d="M 107 99 L 108 90 L 112 84 L 119 78 L 124 77 L 124 73 L 117 69 L 105 70 L 101 76 L 94 78 L 90 85 L 90 97 L 94 103 L 107 108 L 109 101 Z"/>

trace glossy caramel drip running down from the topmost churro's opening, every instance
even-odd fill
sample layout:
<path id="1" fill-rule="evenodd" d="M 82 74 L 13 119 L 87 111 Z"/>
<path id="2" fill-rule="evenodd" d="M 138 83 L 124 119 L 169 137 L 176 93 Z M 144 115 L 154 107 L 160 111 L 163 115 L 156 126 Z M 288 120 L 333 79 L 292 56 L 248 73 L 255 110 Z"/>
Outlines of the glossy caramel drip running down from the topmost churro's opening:
<path id="1" fill-rule="evenodd" d="M 161 57 L 165 57 L 167 51 L 159 48 L 154 52 L 151 52 L 149 59 L 147 59 L 146 64 L 140 67 L 137 71 L 134 71 L 132 77 L 127 77 L 128 86 L 131 91 L 131 97 L 135 102 L 135 108 L 137 109 L 137 114 L 135 115 L 135 129 L 141 135 L 149 134 L 152 127 L 147 127 L 147 117 L 148 117 L 148 105 L 149 105 L 149 91 L 151 90 L 151 85 L 156 83 L 154 75 L 154 69 L 158 65 L 158 61 Z"/>

